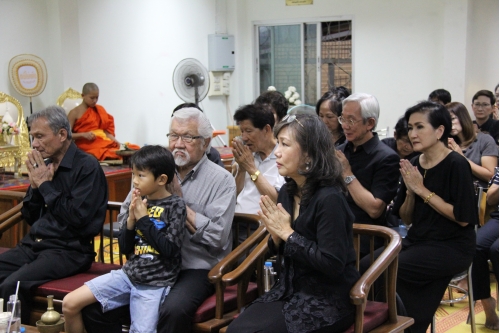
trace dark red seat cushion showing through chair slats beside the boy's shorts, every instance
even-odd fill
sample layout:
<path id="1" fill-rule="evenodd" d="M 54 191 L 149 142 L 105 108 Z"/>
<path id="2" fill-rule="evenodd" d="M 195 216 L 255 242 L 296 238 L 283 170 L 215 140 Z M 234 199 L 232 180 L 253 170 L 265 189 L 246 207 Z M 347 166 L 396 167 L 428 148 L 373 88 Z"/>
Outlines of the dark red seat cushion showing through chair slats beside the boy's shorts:
<path id="1" fill-rule="evenodd" d="M 238 285 L 227 287 L 224 291 L 224 313 L 236 309 L 236 291 Z M 250 282 L 247 289 L 247 299 L 256 299 L 259 296 L 257 284 Z M 215 294 L 203 302 L 196 311 L 193 322 L 202 323 L 215 317 Z"/>

